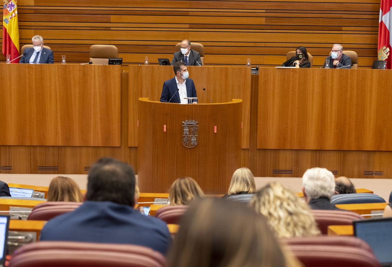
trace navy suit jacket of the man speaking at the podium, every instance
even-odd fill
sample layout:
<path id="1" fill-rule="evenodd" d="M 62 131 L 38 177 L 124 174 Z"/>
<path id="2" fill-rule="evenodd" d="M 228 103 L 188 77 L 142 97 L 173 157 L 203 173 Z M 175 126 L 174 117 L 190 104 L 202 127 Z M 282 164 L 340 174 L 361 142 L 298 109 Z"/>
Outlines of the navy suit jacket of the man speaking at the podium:
<path id="1" fill-rule="evenodd" d="M 187 86 L 187 96 L 188 97 L 197 97 L 196 95 L 196 87 L 195 84 L 193 83 L 193 80 L 191 78 L 186 79 L 187 82 L 185 85 Z M 177 82 L 176 82 L 176 77 L 167 80 L 163 83 L 163 88 L 162 88 L 162 94 L 161 94 L 161 102 L 169 102 L 170 98 L 173 96 L 173 94 L 176 94 L 173 98 L 171 98 L 170 102 L 171 103 L 181 103 L 180 100 L 180 94 L 177 92 L 178 87 L 177 87 Z M 192 100 L 193 102 L 197 102 L 197 100 Z"/>

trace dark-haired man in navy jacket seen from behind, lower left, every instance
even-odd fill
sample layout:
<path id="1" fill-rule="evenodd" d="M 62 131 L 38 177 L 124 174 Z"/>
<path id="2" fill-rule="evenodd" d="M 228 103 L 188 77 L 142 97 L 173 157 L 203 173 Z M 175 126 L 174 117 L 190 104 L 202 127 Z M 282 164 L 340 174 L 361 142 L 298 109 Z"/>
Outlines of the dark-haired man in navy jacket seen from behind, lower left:
<path id="1" fill-rule="evenodd" d="M 101 158 L 89 172 L 86 201 L 49 220 L 41 240 L 133 244 L 165 254 L 171 241 L 167 225 L 136 211 L 134 193 L 132 167 Z"/>

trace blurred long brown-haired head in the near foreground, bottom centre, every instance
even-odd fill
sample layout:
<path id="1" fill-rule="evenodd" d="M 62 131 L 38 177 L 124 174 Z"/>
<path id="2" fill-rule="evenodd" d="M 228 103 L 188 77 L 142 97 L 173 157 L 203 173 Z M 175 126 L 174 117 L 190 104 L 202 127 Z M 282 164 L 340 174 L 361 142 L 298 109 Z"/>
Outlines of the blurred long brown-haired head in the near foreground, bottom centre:
<path id="1" fill-rule="evenodd" d="M 263 216 L 241 203 L 203 198 L 181 219 L 167 266 L 296 266 L 285 259 Z"/>

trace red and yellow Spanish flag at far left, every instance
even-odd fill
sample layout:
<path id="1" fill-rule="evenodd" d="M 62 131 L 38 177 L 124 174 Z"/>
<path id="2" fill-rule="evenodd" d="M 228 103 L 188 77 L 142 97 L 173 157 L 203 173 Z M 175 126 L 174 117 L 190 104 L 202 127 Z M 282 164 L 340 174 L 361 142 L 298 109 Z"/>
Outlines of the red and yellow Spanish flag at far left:
<path id="1" fill-rule="evenodd" d="M 11 55 L 11 60 L 19 56 L 19 28 L 17 0 L 4 0 L 3 10 L 3 54 Z M 18 63 L 15 60 L 13 63 Z"/>

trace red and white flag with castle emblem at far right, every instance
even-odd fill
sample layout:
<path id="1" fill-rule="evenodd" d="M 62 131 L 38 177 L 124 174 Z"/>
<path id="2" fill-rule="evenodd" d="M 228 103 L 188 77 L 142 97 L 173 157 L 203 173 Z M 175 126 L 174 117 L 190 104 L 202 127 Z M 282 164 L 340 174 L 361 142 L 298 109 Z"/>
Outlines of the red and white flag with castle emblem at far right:
<path id="1" fill-rule="evenodd" d="M 378 24 L 378 60 L 387 60 L 387 69 L 392 69 L 389 51 L 392 45 L 392 0 L 381 0 Z"/>

